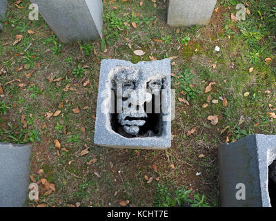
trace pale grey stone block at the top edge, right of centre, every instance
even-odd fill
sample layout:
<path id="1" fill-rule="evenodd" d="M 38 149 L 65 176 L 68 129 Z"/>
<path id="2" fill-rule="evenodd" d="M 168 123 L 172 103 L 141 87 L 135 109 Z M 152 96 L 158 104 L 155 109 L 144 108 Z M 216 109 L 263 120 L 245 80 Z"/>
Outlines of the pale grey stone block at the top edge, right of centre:
<path id="1" fill-rule="evenodd" d="M 170 0 L 168 24 L 173 27 L 207 25 L 217 0 Z"/>

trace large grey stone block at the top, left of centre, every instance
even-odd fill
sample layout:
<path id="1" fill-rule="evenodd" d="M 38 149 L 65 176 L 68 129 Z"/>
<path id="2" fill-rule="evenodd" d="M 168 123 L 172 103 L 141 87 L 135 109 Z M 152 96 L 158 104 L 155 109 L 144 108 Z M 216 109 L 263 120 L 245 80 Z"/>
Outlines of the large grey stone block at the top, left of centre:
<path id="1" fill-rule="evenodd" d="M 31 0 L 61 41 L 89 41 L 102 37 L 101 0 Z"/>

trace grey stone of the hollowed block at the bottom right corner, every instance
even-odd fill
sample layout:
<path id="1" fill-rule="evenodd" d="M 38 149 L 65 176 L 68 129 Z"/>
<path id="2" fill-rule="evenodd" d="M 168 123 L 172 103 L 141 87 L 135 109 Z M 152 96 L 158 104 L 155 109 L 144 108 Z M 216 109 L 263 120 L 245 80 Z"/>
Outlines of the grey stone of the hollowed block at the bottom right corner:
<path id="1" fill-rule="evenodd" d="M 268 166 L 276 159 L 276 135 L 248 135 L 219 146 L 221 206 L 270 207 Z M 246 186 L 246 200 L 237 200 L 238 183 Z"/>

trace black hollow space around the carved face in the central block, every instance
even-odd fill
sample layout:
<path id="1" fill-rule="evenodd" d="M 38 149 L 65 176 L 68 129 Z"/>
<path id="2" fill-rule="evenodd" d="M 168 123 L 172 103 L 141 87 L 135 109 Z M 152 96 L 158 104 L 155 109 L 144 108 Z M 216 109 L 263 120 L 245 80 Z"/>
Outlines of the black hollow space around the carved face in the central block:
<path id="1" fill-rule="evenodd" d="M 113 90 L 114 91 L 114 90 Z M 115 92 L 115 91 L 114 91 Z M 124 99 L 124 98 L 123 98 Z M 111 122 L 111 128 L 116 133 L 119 133 L 119 135 L 122 135 L 127 138 L 133 138 L 133 137 L 158 137 L 161 136 L 162 128 L 163 128 L 163 121 L 162 121 L 162 115 L 161 113 L 154 113 L 155 112 L 155 95 L 152 95 L 152 100 L 148 104 L 148 106 L 151 106 L 152 111 L 147 111 L 147 104 L 144 103 L 144 110 L 145 112 L 151 112 L 147 113 L 148 117 L 142 117 L 142 120 L 146 121 L 146 124 L 143 126 L 140 126 L 139 133 L 137 135 L 130 135 L 126 133 L 124 130 L 124 126 L 119 124 L 118 122 L 118 114 L 112 113 L 110 114 L 110 122 Z M 117 96 L 115 93 L 115 112 L 117 111 Z M 161 112 L 161 101 L 160 101 L 160 112 Z M 132 120 L 132 117 L 126 117 L 128 120 Z M 136 120 L 140 118 L 135 118 Z"/>

